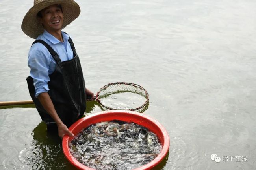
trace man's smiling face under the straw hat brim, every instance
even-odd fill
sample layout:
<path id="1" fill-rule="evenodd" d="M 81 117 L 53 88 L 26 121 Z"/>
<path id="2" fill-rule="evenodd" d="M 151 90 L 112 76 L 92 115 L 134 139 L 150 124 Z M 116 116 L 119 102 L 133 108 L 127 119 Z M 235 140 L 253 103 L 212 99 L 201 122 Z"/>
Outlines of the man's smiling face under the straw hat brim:
<path id="1" fill-rule="evenodd" d="M 40 22 L 48 33 L 61 31 L 63 25 L 63 13 L 58 4 L 50 5 L 40 11 Z"/>

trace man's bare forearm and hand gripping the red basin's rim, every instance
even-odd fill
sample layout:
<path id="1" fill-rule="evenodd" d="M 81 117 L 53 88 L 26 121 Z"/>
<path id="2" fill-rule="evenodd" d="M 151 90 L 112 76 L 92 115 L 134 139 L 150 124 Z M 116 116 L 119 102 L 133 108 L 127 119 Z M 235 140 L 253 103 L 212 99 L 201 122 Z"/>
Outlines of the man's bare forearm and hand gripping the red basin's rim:
<path id="1" fill-rule="evenodd" d="M 67 126 L 64 125 L 64 123 L 59 118 L 49 94 L 47 92 L 40 93 L 38 96 L 38 99 L 43 105 L 43 107 L 45 108 L 46 112 L 48 112 L 48 114 L 50 114 L 52 119 L 54 119 L 54 121 L 56 122 L 58 127 L 59 137 L 61 137 L 62 139 L 65 134 L 69 136 L 74 136 L 74 134 L 72 134 L 72 132 L 69 131 Z"/>

